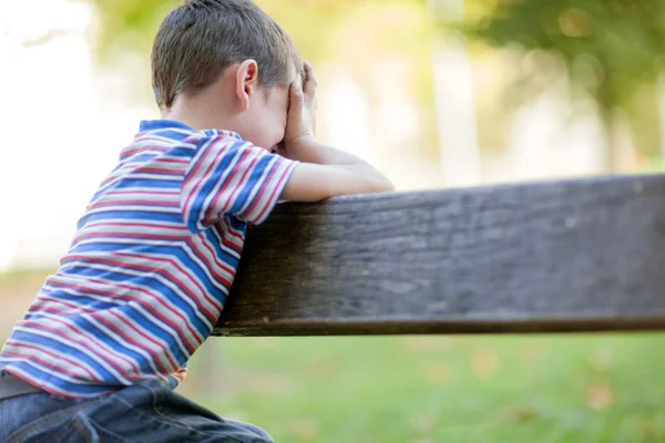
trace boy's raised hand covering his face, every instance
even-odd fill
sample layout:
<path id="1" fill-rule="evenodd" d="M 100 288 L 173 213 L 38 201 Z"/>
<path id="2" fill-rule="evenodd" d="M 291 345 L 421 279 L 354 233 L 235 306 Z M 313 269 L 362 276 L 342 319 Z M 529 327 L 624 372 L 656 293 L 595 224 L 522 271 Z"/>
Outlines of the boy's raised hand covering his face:
<path id="1" fill-rule="evenodd" d="M 284 152 L 286 157 L 297 157 L 303 144 L 311 142 L 316 132 L 315 97 L 316 74 L 309 63 L 305 63 L 305 84 L 297 80 L 290 84 Z M 290 155 L 289 155 L 290 154 Z"/>

